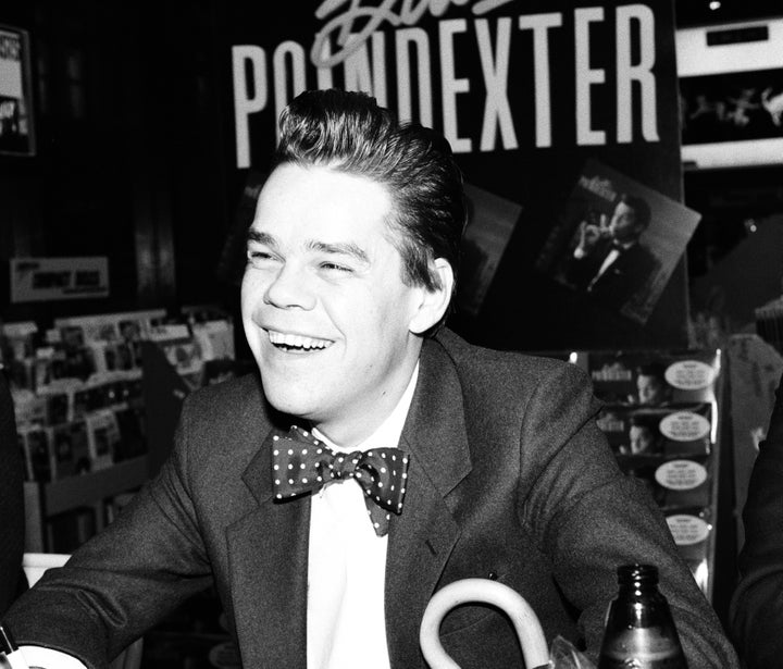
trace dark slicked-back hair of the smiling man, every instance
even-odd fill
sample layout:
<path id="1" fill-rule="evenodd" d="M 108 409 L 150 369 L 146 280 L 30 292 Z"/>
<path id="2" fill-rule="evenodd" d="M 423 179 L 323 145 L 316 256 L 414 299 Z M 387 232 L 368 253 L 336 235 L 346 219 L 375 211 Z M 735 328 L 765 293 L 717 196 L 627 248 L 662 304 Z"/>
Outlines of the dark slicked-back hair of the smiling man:
<path id="1" fill-rule="evenodd" d="M 338 89 L 297 96 L 281 114 L 279 131 L 273 169 L 320 165 L 385 186 L 402 281 L 438 288 L 432 261 L 444 258 L 456 286 L 467 211 L 462 173 L 445 137 L 418 123 L 398 123 L 366 94 Z M 425 334 L 436 332 L 445 319 Z"/>

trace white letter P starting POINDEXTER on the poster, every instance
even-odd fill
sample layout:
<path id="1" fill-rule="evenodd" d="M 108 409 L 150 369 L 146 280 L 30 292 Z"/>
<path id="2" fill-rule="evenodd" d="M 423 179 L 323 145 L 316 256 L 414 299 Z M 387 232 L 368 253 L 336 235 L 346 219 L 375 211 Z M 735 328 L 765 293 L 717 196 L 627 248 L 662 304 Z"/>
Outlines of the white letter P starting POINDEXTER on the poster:
<path id="1" fill-rule="evenodd" d="M 246 67 L 249 67 L 246 70 Z M 234 127 L 237 168 L 250 166 L 250 128 L 248 115 L 266 107 L 266 53 L 261 47 L 232 47 L 234 78 Z M 252 77 L 253 95 L 248 90 L 248 74 Z"/>

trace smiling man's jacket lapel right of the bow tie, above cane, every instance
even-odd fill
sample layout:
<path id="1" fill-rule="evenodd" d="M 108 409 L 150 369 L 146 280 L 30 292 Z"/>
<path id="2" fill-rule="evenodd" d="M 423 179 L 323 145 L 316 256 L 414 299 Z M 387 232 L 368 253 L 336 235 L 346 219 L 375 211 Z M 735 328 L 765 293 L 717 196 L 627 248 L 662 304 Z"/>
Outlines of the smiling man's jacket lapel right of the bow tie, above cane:
<path id="1" fill-rule="evenodd" d="M 401 516 L 386 558 L 386 635 L 391 667 L 423 666 L 419 625 L 459 537 L 450 494 L 470 472 L 462 391 L 453 362 L 426 342 L 400 446 L 411 454 Z"/>

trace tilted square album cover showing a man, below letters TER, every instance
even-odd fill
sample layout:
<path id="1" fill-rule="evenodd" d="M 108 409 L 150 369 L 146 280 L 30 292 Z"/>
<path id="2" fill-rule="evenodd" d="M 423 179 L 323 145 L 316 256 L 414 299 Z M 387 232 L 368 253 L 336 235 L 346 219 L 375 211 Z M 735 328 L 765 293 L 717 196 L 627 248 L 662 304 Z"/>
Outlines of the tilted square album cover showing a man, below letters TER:
<path id="1" fill-rule="evenodd" d="M 700 214 L 588 160 L 558 214 L 536 269 L 586 299 L 647 322 Z"/>

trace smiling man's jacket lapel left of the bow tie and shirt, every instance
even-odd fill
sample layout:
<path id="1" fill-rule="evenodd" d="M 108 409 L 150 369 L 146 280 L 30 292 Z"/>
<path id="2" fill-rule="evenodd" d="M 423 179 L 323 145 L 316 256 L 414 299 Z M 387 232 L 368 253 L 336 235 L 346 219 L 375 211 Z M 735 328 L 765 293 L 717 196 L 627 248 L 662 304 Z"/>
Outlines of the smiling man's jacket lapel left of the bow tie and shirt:
<path id="1" fill-rule="evenodd" d="M 271 436 L 243 475 L 258 507 L 227 531 L 237 635 L 245 667 L 306 669 L 310 499 L 273 501 Z"/>

